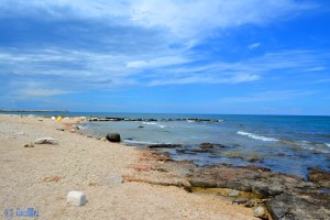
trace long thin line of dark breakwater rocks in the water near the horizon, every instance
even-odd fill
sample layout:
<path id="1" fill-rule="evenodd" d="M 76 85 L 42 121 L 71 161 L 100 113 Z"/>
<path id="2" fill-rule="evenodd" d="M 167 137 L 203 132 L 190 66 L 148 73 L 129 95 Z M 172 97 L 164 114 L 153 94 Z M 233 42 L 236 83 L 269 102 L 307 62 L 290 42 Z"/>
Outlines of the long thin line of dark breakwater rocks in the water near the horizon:
<path id="1" fill-rule="evenodd" d="M 113 117 L 90 117 L 86 118 L 87 121 L 143 121 L 143 122 L 153 122 L 153 121 L 189 121 L 189 122 L 221 122 L 219 119 L 130 119 L 130 118 L 113 118 Z"/>

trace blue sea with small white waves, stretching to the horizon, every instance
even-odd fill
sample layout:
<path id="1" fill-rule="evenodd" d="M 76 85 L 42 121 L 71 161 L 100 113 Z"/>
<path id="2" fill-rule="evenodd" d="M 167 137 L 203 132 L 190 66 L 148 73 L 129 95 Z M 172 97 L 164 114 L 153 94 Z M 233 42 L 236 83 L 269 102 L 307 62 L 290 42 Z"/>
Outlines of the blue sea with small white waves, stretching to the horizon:
<path id="1" fill-rule="evenodd" d="M 33 114 L 55 116 L 52 112 Z M 302 178 L 306 178 L 308 167 L 318 166 L 330 172 L 330 117 L 105 112 L 61 114 L 157 120 L 87 121 L 79 124 L 79 128 L 81 132 L 99 138 L 107 133 L 120 133 L 122 143 L 128 146 L 177 144 L 174 148 L 158 151 L 168 152 L 174 160 L 188 160 L 200 166 L 254 165 Z M 202 143 L 213 144 L 213 147 L 202 148 Z"/>

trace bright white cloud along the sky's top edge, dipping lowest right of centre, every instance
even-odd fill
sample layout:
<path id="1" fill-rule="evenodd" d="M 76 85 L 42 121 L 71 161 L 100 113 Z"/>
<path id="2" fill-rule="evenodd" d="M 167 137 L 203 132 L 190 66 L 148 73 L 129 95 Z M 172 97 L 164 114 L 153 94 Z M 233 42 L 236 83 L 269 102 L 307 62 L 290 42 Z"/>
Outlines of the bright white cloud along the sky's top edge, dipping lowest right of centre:
<path id="1" fill-rule="evenodd" d="M 219 29 L 265 24 L 314 7 L 295 0 L 2 0 L 0 14 L 15 12 L 47 20 L 77 16 L 119 25 L 160 28 L 185 40 L 186 44 L 195 44 Z"/>

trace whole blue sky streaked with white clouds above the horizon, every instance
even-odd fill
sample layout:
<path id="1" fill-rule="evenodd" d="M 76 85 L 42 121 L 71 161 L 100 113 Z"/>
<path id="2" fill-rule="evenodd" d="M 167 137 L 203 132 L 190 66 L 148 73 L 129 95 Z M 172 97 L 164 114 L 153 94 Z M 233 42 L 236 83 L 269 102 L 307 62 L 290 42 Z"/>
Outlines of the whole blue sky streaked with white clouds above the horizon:
<path id="1" fill-rule="evenodd" d="M 1 0 L 0 108 L 330 114 L 324 0 Z"/>

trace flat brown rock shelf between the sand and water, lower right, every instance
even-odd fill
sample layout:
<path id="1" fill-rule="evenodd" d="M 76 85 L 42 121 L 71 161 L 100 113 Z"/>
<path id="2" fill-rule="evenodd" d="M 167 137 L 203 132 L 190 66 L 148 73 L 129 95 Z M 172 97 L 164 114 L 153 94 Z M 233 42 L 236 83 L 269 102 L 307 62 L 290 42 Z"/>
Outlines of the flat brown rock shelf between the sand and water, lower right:
<path id="1" fill-rule="evenodd" d="M 132 168 L 135 172 L 124 176 L 124 182 L 172 185 L 193 193 L 201 189 L 218 191 L 219 196 L 232 198 L 233 204 L 252 207 L 255 217 L 261 219 L 330 217 L 330 195 L 323 190 L 330 183 L 329 173 L 320 168 L 310 169 L 309 179 L 318 176 L 322 185 L 316 179 L 315 183 L 305 182 L 297 176 L 257 166 L 233 167 L 220 164 L 199 167 L 188 161 L 173 161 L 168 153 L 153 150 L 143 151 L 140 163 Z"/>

